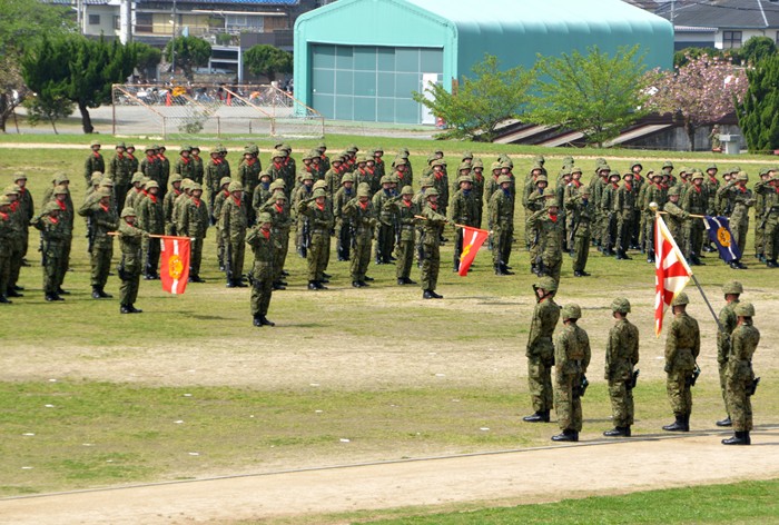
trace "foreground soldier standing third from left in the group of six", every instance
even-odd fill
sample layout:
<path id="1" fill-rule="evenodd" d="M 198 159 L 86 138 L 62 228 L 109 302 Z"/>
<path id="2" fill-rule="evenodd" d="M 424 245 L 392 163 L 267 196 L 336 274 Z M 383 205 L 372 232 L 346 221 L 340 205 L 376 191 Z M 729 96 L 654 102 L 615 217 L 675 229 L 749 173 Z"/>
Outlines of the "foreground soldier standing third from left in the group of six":
<path id="1" fill-rule="evenodd" d="M 607 437 L 630 437 L 633 424 L 633 367 L 639 363 L 639 329 L 628 320 L 630 301 L 618 297 L 611 303 L 611 311 L 617 323 L 609 330 L 605 346 L 605 380 L 609 382 L 611 414 L 614 428 L 603 433 Z"/>

